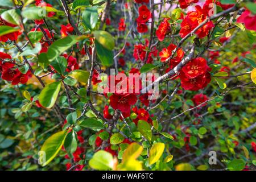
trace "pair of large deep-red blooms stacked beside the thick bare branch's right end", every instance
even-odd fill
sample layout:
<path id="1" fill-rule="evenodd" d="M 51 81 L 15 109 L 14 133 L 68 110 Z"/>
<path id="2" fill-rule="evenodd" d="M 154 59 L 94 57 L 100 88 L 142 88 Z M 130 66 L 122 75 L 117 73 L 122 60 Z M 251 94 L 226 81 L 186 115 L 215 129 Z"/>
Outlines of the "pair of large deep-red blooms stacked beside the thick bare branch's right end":
<path id="1" fill-rule="evenodd" d="M 202 57 L 192 59 L 180 71 L 181 87 L 185 90 L 200 90 L 211 80 L 207 60 Z"/>

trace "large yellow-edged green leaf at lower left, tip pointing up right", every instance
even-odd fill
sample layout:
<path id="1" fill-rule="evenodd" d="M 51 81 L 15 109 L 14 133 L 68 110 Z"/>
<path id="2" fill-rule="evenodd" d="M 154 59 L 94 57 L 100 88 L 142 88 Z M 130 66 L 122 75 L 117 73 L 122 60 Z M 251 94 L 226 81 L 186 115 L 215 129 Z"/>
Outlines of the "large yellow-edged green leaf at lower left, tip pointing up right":
<path id="1" fill-rule="evenodd" d="M 59 131 L 49 137 L 43 144 L 40 151 L 45 152 L 45 161 L 42 166 L 49 164 L 53 158 L 59 153 L 67 136 L 67 131 Z"/>

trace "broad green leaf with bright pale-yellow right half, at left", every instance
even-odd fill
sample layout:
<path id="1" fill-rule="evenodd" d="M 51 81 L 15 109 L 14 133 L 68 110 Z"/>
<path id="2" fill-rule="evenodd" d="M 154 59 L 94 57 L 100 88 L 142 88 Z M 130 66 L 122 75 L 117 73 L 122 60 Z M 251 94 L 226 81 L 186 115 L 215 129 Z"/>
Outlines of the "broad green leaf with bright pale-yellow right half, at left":
<path id="1" fill-rule="evenodd" d="M 40 104 L 48 109 L 53 107 L 60 92 L 60 87 L 60 81 L 46 85 L 39 95 Z"/>

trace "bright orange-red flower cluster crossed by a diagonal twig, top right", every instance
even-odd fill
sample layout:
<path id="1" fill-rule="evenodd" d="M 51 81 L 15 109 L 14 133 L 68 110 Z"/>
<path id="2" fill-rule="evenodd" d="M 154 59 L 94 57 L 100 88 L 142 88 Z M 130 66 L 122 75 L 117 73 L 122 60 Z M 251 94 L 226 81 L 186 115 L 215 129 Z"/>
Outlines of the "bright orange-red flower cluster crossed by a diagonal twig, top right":
<path id="1" fill-rule="evenodd" d="M 199 24 L 207 18 L 209 11 L 209 1 L 205 2 L 203 9 L 201 6 L 196 6 L 195 8 L 196 11 L 188 11 L 187 15 L 181 22 L 181 38 L 184 38 L 186 35 L 188 35 L 193 29 L 199 26 Z M 209 30 L 211 30 L 213 27 L 213 22 L 209 21 L 204 24 L 203 27 L 199 28 L 199 30 L 196 31 L 196 34 L 199 38 L 204 38 L 208 35 Z"/>

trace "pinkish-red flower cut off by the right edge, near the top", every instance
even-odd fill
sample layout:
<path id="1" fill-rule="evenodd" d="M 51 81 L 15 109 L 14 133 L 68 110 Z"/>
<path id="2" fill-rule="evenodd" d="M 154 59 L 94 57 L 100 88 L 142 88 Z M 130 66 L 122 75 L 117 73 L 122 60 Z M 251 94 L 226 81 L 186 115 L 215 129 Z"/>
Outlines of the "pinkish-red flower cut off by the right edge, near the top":
<path id="1" fill-rule="evenodd" d="M 248 30 L 256 31 L 256 15 L 247 9 L 239 16 L 237 23 L 245 23 L 245 27 Z"/>

